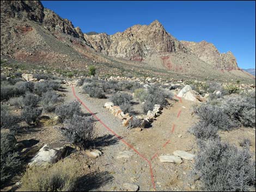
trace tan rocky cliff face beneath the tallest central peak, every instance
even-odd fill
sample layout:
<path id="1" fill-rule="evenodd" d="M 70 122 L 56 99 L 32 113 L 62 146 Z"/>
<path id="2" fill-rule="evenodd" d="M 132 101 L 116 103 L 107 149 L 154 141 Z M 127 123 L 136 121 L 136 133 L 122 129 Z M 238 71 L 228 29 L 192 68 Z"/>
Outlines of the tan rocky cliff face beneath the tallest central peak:
<path id="1" fill-rule="evenodd" d="M 178 40 L 166 32 L 159 21 L 136 25 L 114 35 L 84 35 L 98 52 L 113 57 L 142 61 L 148 55 L 162 52 L 186 52 Z"/>

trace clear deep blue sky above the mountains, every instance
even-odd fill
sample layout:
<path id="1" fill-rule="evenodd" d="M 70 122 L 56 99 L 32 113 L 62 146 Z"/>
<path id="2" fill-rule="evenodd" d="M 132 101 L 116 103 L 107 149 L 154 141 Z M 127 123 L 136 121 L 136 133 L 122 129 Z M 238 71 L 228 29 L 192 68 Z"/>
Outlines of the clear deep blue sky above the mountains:
<path id="1" fill-rule="evenodd" d="M 123 32 L 159 20 L 178 40 L 206 40 L 255 68 L 254 1 L 41 1 L 83 33 Z"/>

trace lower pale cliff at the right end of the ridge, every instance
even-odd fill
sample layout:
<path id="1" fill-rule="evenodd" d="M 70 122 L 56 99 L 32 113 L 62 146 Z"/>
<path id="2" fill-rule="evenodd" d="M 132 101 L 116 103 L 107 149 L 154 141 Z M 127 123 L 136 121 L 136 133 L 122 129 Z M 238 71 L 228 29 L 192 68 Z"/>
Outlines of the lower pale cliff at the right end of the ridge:
<path id="1" fill-rule="evenodd" d="M 219 70 L 237 69 L 236 58 L 231 52 L 220 53 L 218 49 L 209 42 L 181 41 L 187 49 L 196 54 L 197 57 Z"/>

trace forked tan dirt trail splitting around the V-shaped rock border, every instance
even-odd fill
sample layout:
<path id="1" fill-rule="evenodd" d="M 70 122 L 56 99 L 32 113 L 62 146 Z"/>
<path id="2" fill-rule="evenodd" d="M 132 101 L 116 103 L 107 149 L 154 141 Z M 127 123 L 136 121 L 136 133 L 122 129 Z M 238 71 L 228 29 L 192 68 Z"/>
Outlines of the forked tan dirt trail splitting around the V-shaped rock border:
<path id="1" fill-rule="evenodd" d="M 163 113 L 152 123 L 152 127 L 142 132 L 126 130 L 121 121 L 103 108 L 105 100 L 89 98 L 80 94 L 77 87 L 74 92 L 66 87 L 67 100 L 77 98 L 83 103 L 84 112 L 91 110 L 101 121 L 96 122 L 100 136 L 115 135 L 109 145 L 102 147 L 103 155 L 96 159 L 100 171 L 111 172 L 114 177 L 112 183 L 97 190 L 120 190 L 123 183 L 135 183 L 140 191 L 184 190 L 187 188 L 186 170 L 191 170 L 191 162 L 185 161 L 181 165 L 161 163 L 159 154 L 172 154 L 175 150 L 194 153 L 196 141 L 187 133 L 188 127 L 196 121 L 191 116 L 191 103 L 182 101 L 174 103 L 174 107 L 163 109 Z M 87 108 L 87 109 L 86 109 Z M 119 135 L 122 139 L 117 138 Z M 128 159 L 117 159 L 119 152 L 129 151 Z M 185 171 L 184 171 L 185 170 Z M 188 189 L 186 189 L 188 190 Z"/>

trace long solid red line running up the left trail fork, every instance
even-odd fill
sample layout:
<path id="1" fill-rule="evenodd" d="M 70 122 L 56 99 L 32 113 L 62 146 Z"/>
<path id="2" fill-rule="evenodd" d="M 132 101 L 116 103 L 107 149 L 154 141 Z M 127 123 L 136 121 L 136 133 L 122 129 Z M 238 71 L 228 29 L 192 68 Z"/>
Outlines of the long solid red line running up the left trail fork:
<path id="1" fill-rule="evenodd" d="M 132 145 L 130 145 L 129 143 L 127 143 L 124 139 L 122 139 L 117 133 L 115 133 L 111 128 L 109 128 L 105 123 L 103 123 L 99 117 L 97 117 L 87 106 L 86 104 L 84 104 L 80 98 L 76 95 L 75 93 L 75 89 L 74 89 L 74 86 L 72 86 L 72 92 L 73 92 L 73 95 L 76 97 L 76 99 L 82 104 L 82 106 L 84 108 L 86 108 L 86 110 L 88 110 L 88 112 L 90 114 L 93 115 L 93 117 L 98 120 L 109 132 L 113 133 L 115 135 L 115 137 L 117 137 L 120 141 L 122 141 L 125 145 L 127 145 L 128 147 L 130 147 L 133 151 L 135 151 L 141 158 L 143 158 L 146 162 L 148 162 L 149 164 L 149 169 L 150 169 L 150 176 L 151 176 L 151 182 L 153 184 L 153 188 L 156 189 L 156 185 L 155 185 L 155 181 L 154 181 L 154 175 L 153 175 L 153 170 L 152 170 L 152 165 L 151 165 L 151 162 L 145 158 L 141 153 L 139 153 L 136 148 L 134 148 Z"/>

